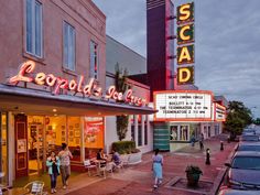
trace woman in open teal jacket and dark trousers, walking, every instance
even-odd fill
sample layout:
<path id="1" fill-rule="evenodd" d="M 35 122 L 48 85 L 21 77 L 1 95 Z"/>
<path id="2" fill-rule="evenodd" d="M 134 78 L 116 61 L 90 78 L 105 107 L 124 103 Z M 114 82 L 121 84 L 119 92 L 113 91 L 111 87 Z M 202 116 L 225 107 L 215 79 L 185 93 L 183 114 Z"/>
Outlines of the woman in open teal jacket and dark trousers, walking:
<path id="1" fill-rule="evenodd" d="M 59 175 L 59 159 L 56 156 L 55 152 L 51 153 L 47 158 L 46 166 L 48 167 L 48 174 L 51 177 L 51 193 L 56 192 L 57 176 Z"/>

